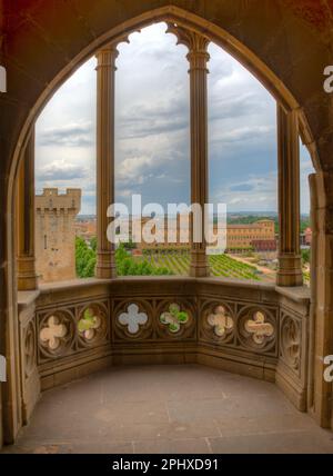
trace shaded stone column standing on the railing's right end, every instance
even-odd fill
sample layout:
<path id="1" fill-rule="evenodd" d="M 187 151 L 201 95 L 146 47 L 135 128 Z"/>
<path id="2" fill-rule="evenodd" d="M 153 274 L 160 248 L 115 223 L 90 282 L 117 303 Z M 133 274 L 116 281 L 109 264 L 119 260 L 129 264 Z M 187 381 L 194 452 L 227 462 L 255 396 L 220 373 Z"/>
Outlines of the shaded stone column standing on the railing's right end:
<path id="1" fill-rule="evenodd" d="M 302 286 L 300 250 L 300 142 L 297 112 L 278 106 L 279 271 L 278 286 Z"/>

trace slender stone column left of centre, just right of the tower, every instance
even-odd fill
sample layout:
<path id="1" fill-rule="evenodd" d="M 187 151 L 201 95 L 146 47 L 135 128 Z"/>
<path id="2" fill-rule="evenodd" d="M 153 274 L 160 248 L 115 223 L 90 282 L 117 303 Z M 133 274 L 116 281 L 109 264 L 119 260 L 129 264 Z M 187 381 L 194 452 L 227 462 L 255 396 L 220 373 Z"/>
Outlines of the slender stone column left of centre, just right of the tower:
<path id="1" fill-rule="evenodd" d="M 107 237 L 107 210 L 114 202 L 114 44 L 97 53 L 97 278 L 115 277 L 114 244 Z"/>

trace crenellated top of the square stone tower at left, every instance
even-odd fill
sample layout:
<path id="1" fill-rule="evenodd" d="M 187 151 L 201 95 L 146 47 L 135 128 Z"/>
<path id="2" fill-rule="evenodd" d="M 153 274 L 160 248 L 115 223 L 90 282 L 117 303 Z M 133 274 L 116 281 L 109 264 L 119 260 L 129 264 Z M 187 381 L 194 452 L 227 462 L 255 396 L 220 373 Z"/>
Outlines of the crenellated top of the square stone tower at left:
<path id="1" fill-rule="evenodd" d="M 58 188 L 44 188 L 34 198 L 36 210 L 63 210 L 79 214 L 81 209 L 81 189 L 68 188 L 65 194 L 59 194 Z"/>

